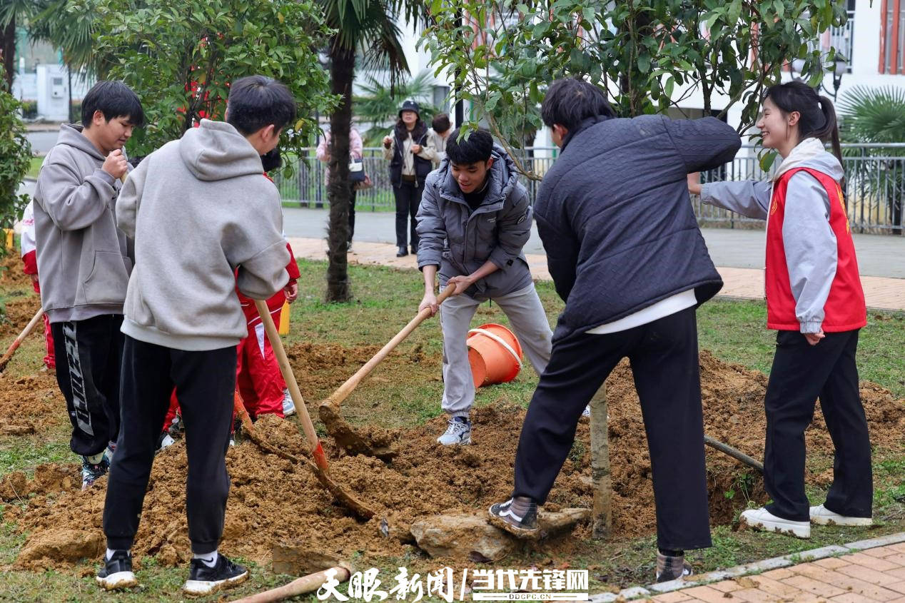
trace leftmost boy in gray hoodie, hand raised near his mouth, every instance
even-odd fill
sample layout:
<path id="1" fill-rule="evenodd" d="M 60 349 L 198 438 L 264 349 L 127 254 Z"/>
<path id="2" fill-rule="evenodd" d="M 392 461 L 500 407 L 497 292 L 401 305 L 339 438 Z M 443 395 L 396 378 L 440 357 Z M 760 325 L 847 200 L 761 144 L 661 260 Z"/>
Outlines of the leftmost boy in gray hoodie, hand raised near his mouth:
<path id="1" fill-rule="evenodd" d="M 41 302 L 82 489 L 107 473 L 119 434 L 119 326 L 132 261 L 114 204 L 129 169 L 122 147 L 143 121 L 135 92 L 99 81 L 82 101 L 81 125 L 60 127 L 34 192 Z"/>

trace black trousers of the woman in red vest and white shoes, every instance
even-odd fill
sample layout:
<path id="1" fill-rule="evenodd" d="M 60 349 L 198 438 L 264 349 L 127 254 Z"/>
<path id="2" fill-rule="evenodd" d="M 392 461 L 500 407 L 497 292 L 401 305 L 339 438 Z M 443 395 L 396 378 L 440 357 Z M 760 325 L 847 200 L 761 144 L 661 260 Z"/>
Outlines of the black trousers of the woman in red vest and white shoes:
<path id="1" fill-rule="evenodd" d="M 871 517 L 871 441 L 858 390 L 858 330 L 826 333 L 815 346 L 794 330 L 776 333 L 767 383 L 764 485 L 767 511 L 794 522 L 809 520 L 805 496 L 805 429 L 820 397 L 833 438 L 833 485 L 824 507 L 848 517 Z"/>

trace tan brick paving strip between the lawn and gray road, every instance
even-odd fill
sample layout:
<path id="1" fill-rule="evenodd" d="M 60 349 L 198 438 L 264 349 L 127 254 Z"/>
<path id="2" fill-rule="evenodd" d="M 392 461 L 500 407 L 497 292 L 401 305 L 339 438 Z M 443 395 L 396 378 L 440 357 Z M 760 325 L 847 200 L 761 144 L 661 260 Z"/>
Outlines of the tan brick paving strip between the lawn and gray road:
<path id="1" fill-rule="evenodd" d="M 289 230 L 287 228 L 287 230 Z M 310 260 L 326 259 L 327 242 L 323 238 L 291 236 L 289 239 L 292 251 L 297 257 Z M 414 268 L 413 255 L 395 256 L 395 245 L 356 241 L 348 259 L 351 263 L 394 266 L 396 268 Z M 540 281 L 549 281 L 547 256 L 544 254 L 527 254 L 531 274 Z M 898 263 L 903 263 L 898 261 Z M 764 299 L 764 271 L 757 268 L 717 268 L 725 283 L 720 296 L 745 300 Z M 868 307 L 876 310 L 905 311 L 905 278 L 883 276 L 862 276 L 864 296 Z"/>

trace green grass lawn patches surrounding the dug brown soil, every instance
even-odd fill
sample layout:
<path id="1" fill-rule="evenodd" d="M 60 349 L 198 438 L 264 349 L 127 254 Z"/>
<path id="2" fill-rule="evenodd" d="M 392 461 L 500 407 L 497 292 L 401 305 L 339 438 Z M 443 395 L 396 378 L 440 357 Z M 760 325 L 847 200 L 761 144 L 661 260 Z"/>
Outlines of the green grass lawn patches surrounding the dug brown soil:
<path id="1" fill-rule="evenodd" d="M 345 347 L 383 345 L 414 315 L 423 292 L 421 275 L 414 270 L 352 266 L 349 278 L 355 300 L 344 304 L 328 304 L 323 302 L 326 264 L 300 261 L 300 270 L 300 296 L 291 306 L 291 333 L 286 337 L 287 346 L 302 341 L 334 343 Z M 0 303 L 11 292 L 0 287 Z M 538 292 L 552 324 L 562 309 L 562 302 L 558 300 L 551 283 L 539 283 Z M 765 315 L 763 302 L 716 300 L 704 304 L 698 311 L 700 348 L 710 349 L 720 359 L 768 371 L 775 334 L 766 330 Z M 475 318 L 475 325 L 481 322 L 507 321 L 495 304 L 483 304 Z M 415 330 L 400 349 L 405 352 L 417 349 L 418 346 L 421 346 L 427 357 L 439 356 L 441 338 L 435 322 L 428 322 Z M 862 330 L 858 350 L 861 378 L 875 381 L 890 388 L 898 397 L 905 397 L 902 349 L 905 349 L 905 314 L 872 312 L 869 325 Z M 42 356 L 40 340 L 31 338 L 26 341 L 7 371 L 13 377 L 31 374 L 40 367 Z M 379 375 L 379 370 L 377 369 L 375 376 Z M 477 404 L 490 404 L 505 396 L 527 405 L 536 384 L 537 378 L 533 371 L 526 370 L 512 383 L 480 389 Z M 442 388 L 439 380 L 411 383 L 393 379 L 378 381 L 372 378 L 367 388 L 358 388 L 355 398 L 350 398 L 350 419 L 355 416 L 355 409 L 359 404 L 361 407 L 373 407 L 371 402 L 383 403 L 392 399 L 404 401 L 405 404 L 395 404 L 392 413 L 383 412 L 378 416 L 371 416 L 370 420 L 386 426 L 424 422 L 440 415 Z M 314 399 L 325 397 L 328 393 L 316 391 L 314 395 L 317 397 Z M 306 393 L 306 397 L 309 394 Z M 381 404 L 380 407 L 386 408 L 386 404 Z M 27 470 L 35 464 L 60 461 L 67 457 L 68 434 L 64 426 L 52 433 L 43 434 L 41 440 L 38 443 L 28 438 L 0 436 L 0 476 L 15 469 Z M 820 527 L 814 529 L 810 541 L 798 541 L 774 534 L 731 531 L 729 526 L 721 526 L 713 531 L 714 546 L 708 550 L 691 552 L 689 559 L 696 570 L 708 571 L 905 530 L 903 458 L 905 455 L 902 450 L 875 451 L 874 516 L 878 525 L 872 529 Z M 809 469 L 812 471 L 831 465 L 832 459 L 825 457 L 809 459 Z M 820 500 L 824 493 L 811 489 L 809 494 L 814 500 Z M 291 509 L 287 509 L 287 512 L 291 512 Z M 4 521 L 3 505 L 0 505 L 0 564 L 14 560 L 23 543 L 24 535 L 19 534 L 13 524 Z M 579 541 L 569 558 L 557 559 L 556 562 L 567 561 L 573 569 L 591 570 L 591 589 L 599 591 L 614 583 L 649 583 L 653 576 L 653 547 L 653 536 L 625 539 L 616 535 L 603 544 Z M 533 555 L 538 557 L 538 564 L 544 561 L 542 553 Z M 519 558 L 519 563 L 526 561 L 527 559 Z M 396 567 L 404 566 L 406 560 L 368 560 L 369 564 L 372 562 L 379 565 L 381 579 L 385 579 L 395 575 Z M 505 562 L 500 562 L 492 564 L 492 567 L 508 566 Z M 76 572 L 73 571 L 39 574 L 0 569 L 0 600 L 98 600 L 100 595 L 93 584 L 92 568 L 93 563 L 77 568 L 85 573 L 84 577 L 75 575 Z M 248 595 L 289 580 L 288 577 L 273 574 L 269 568 L 254 567 L 252 570 L 250 582 L 231 591 L 229 598 Z M 120 595 L 116 600 L 173 600 L 178 597 L 178 589 L 185 578 L 184 568 L 161 568 L 153 558 L 146 559 L 143 560 L 139 573 L 143 588 Z M 309 597 L 306 600 L 316 599 Z"/>

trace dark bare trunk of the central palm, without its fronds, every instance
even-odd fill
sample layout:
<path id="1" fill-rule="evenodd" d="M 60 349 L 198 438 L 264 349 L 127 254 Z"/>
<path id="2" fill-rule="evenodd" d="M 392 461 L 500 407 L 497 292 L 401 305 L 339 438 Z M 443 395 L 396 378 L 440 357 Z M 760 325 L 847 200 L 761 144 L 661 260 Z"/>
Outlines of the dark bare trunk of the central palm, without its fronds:
<path id="1" fill-rule="evenodd" d="M 348 180 L 349 130 L 352 127 L 352 80 L 355 76 L 355 51 L 330 45 L 330 88 L 339 94 L 337 110 L 330 116 L 329 174 L 327 195 L 330 203 L 327 231 L 327 301 L 352 299 L 348 283 L 348 210 L 351 187 Z"/>

